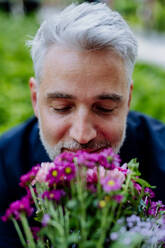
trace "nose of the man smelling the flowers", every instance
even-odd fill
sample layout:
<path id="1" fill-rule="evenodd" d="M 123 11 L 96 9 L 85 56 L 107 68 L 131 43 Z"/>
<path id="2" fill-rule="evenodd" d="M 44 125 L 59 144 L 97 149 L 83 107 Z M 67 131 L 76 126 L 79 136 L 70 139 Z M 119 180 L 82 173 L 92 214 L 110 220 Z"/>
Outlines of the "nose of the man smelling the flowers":
<path id="1" fill-rule="evenodd" d="M 85 110 L 79 111 L 72 120 L 70 137 L 79 144 L 87 144 L 97 136 L 97 130 Z"/>

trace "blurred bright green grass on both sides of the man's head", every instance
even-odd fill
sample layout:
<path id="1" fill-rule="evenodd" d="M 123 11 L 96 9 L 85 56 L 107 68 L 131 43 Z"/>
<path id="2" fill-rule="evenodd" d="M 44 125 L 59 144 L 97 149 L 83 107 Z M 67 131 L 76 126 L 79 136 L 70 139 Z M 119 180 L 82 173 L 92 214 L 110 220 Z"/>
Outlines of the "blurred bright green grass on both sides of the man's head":
<path id="1" fill-rule="evenodd" d="M 35 16 L 0 13 L 0 134 L 33 115 L 28 80 L 32 62 L 25 41 L 39 27 Z M 165 122 L 165 70 L 137 63 L 131 108 Z"/>

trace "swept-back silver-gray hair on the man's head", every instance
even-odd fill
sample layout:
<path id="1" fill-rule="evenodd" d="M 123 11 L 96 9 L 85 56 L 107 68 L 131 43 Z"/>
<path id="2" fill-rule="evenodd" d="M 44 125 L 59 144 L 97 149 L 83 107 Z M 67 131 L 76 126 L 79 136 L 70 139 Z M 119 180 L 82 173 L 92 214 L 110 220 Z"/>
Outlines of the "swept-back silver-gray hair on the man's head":
<path id="1" fill-rule="evenodd" d="M 41 79 L 47 50 L 52 45 L 74 49 L 113 49 L 125 62 L 131 83 L 137 55 L 137 42 L 121 15 L 103 3 L 71 4 L 45 20 L 34 39 L 29 41 L 36 80 Z"/>

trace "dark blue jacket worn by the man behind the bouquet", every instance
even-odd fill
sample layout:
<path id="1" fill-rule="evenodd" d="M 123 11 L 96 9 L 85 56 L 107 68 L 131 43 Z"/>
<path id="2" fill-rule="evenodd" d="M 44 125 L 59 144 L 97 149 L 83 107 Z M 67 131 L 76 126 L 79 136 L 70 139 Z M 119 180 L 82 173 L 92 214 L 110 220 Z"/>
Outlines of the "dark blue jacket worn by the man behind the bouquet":
<path id="1" fill-rule="evenodd" d="M 140 113 L 130 112 L 122 162 L 137 158 L 142 177 L 156 185 L 157 199 L 165 201 L 165 125 Z M 25 192 L 19 178 L 37 163 L 49 161 L 39 139 L 36 118 L 10 130 L 0 138 L 0 215 L 9 203 Z M 19 248 L 12 223 L 0 221 L 0 248 Z"/>

